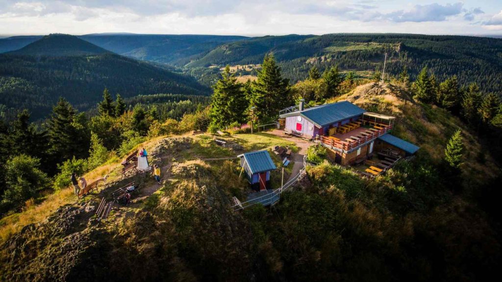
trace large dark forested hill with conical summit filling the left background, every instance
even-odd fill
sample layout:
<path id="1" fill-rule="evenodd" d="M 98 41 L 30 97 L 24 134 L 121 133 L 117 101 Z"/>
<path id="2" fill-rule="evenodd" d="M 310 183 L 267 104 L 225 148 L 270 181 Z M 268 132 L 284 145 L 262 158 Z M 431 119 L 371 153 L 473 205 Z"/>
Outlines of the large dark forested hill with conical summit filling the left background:
<path id="1" fill-rule="evenodd" d="M 62 38 L 70 38 L 72 44 L 59 45 Z M 0 104 L 8 109 L 27 108 L 33 112 L 33 118 L 45 117 L 60 96 L 77 109 L 88 109 L 99 101 L 104 88 L 124 98 L 209 93 L 208 88 L 191 77 L 109 53 L 75 37 L 52 36 L 42 40 L 43 44 L 34 42 L 16 54 L 0 55 Z M 63 48 L 58 49 L 59 56 L 48 55 L 48 50 L 54 51 L 52 47 Z M 103 54 L 78 55 L 82 50 Z"/>

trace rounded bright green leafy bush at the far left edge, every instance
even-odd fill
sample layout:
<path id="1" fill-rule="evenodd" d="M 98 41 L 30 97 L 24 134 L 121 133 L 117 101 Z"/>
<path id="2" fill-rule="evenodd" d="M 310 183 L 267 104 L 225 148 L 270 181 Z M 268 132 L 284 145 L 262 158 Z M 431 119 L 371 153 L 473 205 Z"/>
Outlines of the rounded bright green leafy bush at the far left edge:
<path id="1" fill-rule="evenodd" d="M 1 211 L 22 207 L 26 201 L 37 196 L 37 192 L 47 188 L 47 175 L 40 169 L 40 160 L 19 155 L 8 160 L 5 166 L 5 190 Z"/>

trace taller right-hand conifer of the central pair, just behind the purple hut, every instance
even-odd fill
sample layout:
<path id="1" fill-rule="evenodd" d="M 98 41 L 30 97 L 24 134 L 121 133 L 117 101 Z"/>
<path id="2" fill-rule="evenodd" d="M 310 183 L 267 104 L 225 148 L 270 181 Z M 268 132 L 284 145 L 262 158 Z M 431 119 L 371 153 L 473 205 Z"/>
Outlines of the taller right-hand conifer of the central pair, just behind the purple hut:
<path id="1" fill-rule="evenodd" d="M 256 106 L 254 114 L 259 120 L 275 117 L 279 110 L 287 107 L 290 100 L 288 79 L 282 77 L 272 54 L 265 56 L 258 79 L 253 82 L 253 95 L 250 101 Z"/>

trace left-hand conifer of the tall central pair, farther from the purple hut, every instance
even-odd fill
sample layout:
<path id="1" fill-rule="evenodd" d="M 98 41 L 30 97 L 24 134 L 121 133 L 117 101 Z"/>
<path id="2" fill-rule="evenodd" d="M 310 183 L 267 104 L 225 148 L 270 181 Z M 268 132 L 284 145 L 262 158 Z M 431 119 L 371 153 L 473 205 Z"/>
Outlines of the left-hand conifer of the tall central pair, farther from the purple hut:
<path id="1" fill-rule="evenodd" d="M 221 129 L 232 122 L 243 122 L 242 114 L 248 106 L 242 85 L 237 82 L 234 74 L 230 73 L 230 67 L 226 66 L 214 87 L 211 101 L 211 128 Z"/>

